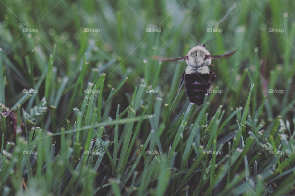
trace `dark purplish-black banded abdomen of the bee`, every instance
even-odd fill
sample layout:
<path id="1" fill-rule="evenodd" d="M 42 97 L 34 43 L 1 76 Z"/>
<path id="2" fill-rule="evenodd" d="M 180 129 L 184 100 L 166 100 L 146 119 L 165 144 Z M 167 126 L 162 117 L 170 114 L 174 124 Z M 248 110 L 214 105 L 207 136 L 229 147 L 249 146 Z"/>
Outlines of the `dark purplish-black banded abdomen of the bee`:
<path id="1" fill-rule="evenodd" d="M 205 93 L 215 79 L 215 74 L 184 74 L 185 91 L 190 102 L 202 105 Z"/>

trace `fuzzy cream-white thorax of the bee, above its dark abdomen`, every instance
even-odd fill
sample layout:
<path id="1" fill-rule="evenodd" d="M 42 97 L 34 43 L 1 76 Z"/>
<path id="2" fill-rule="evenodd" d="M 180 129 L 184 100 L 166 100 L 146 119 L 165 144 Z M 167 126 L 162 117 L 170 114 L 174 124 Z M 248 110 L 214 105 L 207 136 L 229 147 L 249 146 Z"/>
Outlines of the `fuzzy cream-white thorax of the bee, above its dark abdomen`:
<path id="1" fill-rule="evenodd" d="M 188 60 L 185 61 L 187 63 L 186 74 L 209 74 L 208 65 L 211 64 L 211 58 L 205 59 L 205 55 L 210 55 L 206 47 L 202 45 L 197 45 L 193 47 L 187 54 Z"/>

